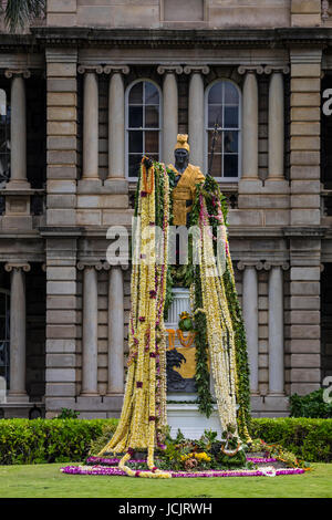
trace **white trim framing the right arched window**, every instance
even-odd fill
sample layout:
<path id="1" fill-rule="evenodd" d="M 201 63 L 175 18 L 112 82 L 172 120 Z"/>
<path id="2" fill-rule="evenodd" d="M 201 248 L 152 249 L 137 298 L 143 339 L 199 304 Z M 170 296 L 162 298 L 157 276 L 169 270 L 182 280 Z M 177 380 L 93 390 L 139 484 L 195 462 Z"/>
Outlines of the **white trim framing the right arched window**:
<path id="1" fill-rule="evenodd" d="M 239 175 L 238 177 L 214 177 L 218 183 L 238 183 L 242 175 L 242 93 L 239 85 L 228 77 L 218 77 L 217 80 L 212 81 L 206 90 L 204 96 L 204 164 L 205 164 L 205 171 L 208 173 L 208 95 L 214 85 L 221 82 L 231 83 L 239 94 L 239 125 L 238 128 L 229 128 L 229 131 L 238 131 L 238 157 L 239 157 Z"/>

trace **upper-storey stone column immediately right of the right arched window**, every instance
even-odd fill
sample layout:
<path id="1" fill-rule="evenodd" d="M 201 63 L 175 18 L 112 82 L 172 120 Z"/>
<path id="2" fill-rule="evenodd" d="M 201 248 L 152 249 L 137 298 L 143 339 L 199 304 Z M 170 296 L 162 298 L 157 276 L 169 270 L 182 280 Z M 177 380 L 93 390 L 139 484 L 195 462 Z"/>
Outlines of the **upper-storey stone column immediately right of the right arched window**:
<path id="1" fill-rule="evenodd" d="M 246 73 L 242 96 L 242 179 L 258 180 L 258 84 L 261 66 L 239 66 Z"/>

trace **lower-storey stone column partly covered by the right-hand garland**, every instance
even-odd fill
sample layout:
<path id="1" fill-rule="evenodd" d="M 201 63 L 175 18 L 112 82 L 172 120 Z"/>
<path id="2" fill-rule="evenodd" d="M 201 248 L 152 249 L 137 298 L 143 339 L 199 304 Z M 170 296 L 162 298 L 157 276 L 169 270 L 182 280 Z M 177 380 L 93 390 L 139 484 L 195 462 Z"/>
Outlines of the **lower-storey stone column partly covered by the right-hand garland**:
<path id="1" fill-rule="evenodd" d="M 250 391 L 258 394 L 258 278 L 257 269 L 262 264 L 239 262 L 238 269 L 243 271 L 242 280 L 242 311 L 246 325 L 249 367 Z"/>

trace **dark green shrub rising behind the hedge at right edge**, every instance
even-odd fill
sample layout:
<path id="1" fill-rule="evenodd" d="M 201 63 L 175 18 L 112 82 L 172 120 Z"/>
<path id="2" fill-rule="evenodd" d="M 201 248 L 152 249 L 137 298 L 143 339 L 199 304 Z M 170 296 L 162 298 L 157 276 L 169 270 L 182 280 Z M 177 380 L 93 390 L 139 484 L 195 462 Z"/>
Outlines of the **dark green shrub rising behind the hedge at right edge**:
<path id="1" fill-rule="evenodd" d="M 332 403 L 324 403 L 323 388 L 308 395 L 290 396 L 291 417 L 332 418 Z"/>

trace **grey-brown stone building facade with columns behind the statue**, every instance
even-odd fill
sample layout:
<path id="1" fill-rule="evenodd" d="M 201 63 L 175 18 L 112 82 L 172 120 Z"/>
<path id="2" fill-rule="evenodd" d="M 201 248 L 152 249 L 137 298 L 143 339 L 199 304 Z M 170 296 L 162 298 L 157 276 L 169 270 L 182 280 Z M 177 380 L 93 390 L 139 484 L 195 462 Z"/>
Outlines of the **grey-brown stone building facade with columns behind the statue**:
<path id="1" fill-rule="evenodd" d="M 114 226 L 131 232 L 142 154 L 172 163 L 188 134 L 207 173 L 216 124 L 253 415 L 287 415 L 332 375 L 331 44 L 321 0 L 49 0 L 3 30 L 1 417 L 118 415 L 131 290 L 106 259 Z"/>

